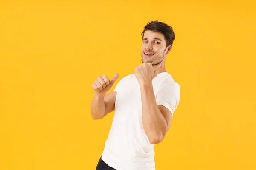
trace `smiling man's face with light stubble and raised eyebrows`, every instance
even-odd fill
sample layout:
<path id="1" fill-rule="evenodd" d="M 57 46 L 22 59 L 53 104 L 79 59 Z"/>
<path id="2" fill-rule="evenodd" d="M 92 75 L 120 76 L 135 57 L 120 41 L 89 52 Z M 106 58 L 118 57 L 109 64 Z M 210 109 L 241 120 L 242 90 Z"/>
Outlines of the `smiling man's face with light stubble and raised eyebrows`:
<path id="1" fill-rule="evenodd" d="M 141 45 L 142 63 L 159 64 L 168 53 L 163 34 L 150 30 L 145 31 Z"/>

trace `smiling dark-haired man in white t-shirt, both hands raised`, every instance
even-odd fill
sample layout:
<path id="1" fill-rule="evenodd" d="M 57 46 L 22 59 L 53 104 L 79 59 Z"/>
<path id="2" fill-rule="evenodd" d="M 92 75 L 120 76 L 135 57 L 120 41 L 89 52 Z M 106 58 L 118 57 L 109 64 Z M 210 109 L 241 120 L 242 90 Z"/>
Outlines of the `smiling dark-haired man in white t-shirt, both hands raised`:
<path id="1" fill-rule="evenodd" d="M 91 104 L 93 119 L 114 111 L 96 170 L 155 170 L 154 145 L 163 141 L 180 101 L 180 85 L 166 72 L 175 34 L 165 23 L 149 22 L 142 32 L 142 63 L 106 95 L 113 79 L 98 77 Z"/>

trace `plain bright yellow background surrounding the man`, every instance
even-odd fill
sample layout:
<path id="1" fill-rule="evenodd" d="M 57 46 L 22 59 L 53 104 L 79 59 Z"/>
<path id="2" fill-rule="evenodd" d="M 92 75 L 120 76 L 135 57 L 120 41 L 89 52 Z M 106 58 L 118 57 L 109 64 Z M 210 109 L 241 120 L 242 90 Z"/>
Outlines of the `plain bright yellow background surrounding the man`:
<path id="1" fill-rule="evenodd" d="M 134 73 L 151 20 L 175 31 L 166 69 L 181 88 L 156 169 L 255 170 L 255 6 L 1 1 L 0 170 L 94 170 L 113 112 L 91 119 L 91 84 Z"/>

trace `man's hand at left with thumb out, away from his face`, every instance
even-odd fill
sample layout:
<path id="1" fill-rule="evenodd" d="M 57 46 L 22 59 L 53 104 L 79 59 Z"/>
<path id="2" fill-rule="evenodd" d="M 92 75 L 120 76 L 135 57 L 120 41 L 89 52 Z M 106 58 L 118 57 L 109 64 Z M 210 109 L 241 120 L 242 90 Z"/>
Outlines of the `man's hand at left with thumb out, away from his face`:
<path id="1" fill-rule="evenodd" d="M 105 95 L 112 88 L 119 74 L 116 73 L 112 80 L 109 80 L 106 75 L 99 76 L 93 83 L 93 91 L 98 95 Z"/>

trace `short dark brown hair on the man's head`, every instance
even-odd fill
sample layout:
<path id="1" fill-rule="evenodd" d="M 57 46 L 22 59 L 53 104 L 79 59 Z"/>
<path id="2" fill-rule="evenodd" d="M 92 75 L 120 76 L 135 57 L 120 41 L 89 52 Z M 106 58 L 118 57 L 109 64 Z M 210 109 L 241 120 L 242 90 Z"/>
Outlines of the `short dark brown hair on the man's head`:
<path id="1" fill-rule="evenodd" d="M 147 25 L 144 27 L 143 32 L 141 33 L 142 40 L 144 38 L 144 33 L 147 30 L 162 33 L 166 40 L 166 47 L 173 44 L 173 41 L 175 39 L 175 34 L 172 27 L 168 26 L 166 23 L 163 23 L 160 21 L 148 22 Z"/>

